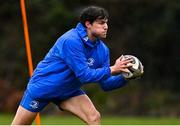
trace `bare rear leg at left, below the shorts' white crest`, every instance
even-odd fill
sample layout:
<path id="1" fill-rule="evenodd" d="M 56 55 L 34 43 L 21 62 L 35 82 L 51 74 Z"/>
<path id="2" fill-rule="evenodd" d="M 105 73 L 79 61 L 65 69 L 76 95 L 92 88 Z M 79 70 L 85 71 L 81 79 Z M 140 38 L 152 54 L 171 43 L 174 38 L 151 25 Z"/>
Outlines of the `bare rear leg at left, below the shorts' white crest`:
<path id="1" fill-rule="evenodd" d="M 19 106 L 12 125 L 30 125 L 32 124 L 36 115 L 36 112 L 30 112 L 24 109 L 22 106 Z"/>

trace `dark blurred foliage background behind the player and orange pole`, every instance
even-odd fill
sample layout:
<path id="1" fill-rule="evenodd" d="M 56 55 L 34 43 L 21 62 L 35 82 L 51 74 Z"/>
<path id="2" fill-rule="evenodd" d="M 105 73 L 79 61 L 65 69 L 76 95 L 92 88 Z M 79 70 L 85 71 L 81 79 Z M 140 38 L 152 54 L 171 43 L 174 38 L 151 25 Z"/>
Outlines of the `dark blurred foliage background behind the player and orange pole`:
<path id="1" fill-rule="evenodd" d="M 78 23 L 82 8 L 108 10 L 106 45 L 111 64 L 122 54 L 137 56 L 144 76 L 121 89 L 84 90 L 102 115 L 180 116 L 180 1 L 178 0 L 26 0 L 34 68 L 55 41 Z M 29 80 L 20 1 L 0 1 L 0 113 L 15 114 Z M 42 112 L 64 114 L 49 105 Z"/>

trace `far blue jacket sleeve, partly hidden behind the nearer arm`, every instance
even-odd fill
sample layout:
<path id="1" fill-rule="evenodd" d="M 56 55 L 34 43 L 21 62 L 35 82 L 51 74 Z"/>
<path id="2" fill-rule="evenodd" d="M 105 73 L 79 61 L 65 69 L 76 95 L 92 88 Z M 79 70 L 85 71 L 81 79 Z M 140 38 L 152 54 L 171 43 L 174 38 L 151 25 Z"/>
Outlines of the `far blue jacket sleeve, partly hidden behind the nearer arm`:
<path id="1" fill-rule="evenodd" d="M 110 66 L 109 50 L 106 52 L 107 52 L 106 60 L 104 61 L 103 66 L 109 67 Z M 122 75 L 110 76 L 100 81 L 100 86 L 104 91 L 115 90 L 115 89 L 125 86 L 126 84 L 127 84 L 127 81 L 124 79 Z"/>

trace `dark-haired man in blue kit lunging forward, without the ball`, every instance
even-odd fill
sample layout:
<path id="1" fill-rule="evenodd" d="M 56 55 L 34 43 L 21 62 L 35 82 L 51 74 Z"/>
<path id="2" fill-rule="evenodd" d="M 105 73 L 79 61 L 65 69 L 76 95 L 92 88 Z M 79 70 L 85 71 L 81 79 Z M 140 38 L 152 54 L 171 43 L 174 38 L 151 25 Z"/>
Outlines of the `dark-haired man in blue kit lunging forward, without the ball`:
<path id="1" fill-rule="evenodd" d="M 110 66 L 106 38 L 108 13 L 96 6 L 85 8 L 80 22 L 62 35 L 37 65 L 12 125 L 31 124 L 49 102 L 78 116 L 86 124 L 100 124 L 100 114 L 81 86 L 99 83 L 109 91 L 124 86 L 120 74 L 131 59 L 118 58 Z"/>

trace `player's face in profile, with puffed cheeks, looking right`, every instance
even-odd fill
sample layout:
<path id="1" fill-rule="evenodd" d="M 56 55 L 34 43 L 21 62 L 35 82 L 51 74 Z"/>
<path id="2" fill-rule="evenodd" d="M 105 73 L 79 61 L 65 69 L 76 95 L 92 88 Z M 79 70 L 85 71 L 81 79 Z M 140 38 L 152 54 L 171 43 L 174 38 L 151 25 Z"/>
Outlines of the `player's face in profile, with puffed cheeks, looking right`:
<path id="1" fill-rule="evenodd" d="M 108 25 L 107 19 L 98 19 L 95 20 L 90 27 L 91 35 L 96 38 L 106 38 Z"/>

